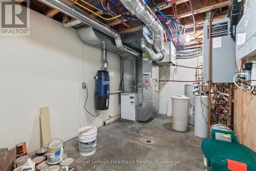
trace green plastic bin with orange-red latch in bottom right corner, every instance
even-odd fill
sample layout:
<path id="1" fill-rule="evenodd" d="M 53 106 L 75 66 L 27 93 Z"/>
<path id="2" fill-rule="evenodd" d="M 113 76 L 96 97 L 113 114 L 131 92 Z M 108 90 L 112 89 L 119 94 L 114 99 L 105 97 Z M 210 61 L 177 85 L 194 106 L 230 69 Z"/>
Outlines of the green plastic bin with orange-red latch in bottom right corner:
<path id="1" fill-rule="evenodd" d="M 207 171 L 244 171 L 244 167 L 248 171 L 256 170 L 256 154 L 245 145 L 204 139 L 201 149 L 207 158 Z"/>

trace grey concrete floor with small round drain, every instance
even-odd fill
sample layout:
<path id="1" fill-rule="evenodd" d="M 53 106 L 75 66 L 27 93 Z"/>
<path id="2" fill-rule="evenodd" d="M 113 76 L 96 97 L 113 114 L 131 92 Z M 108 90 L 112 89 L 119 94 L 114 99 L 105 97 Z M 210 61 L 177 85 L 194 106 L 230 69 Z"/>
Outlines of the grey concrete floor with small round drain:
<path id="1" fill-rule="evenodd" d="M 172 129 L 172 118 L 156 115 L 149 122 L 131 123 L 117 120 L 98 129 L 98 145 L 95 154 L 82 157 L 78 152 L 78 138 L 65 143 L 64 152 L 74 158 L 79 171 L 83 170 L 205 170 L 201 152 L 202 139 L 193 135 L 194 127 L 189 125 L 186 132 Z M 150 143 L 146 141 L 150 140 Z M 88 162 L 90 164 L 78 164 Z M 92 163 L 97 160 L 108 164 Z M 111 161 L 133 161 L 135 164 L 114 164 Z M 138 161 L 137 161 L 138 160 Z M 150 164 L 139 164 L 137 162 Z M 159 164 L 155 160 L 178 162 Z"/>

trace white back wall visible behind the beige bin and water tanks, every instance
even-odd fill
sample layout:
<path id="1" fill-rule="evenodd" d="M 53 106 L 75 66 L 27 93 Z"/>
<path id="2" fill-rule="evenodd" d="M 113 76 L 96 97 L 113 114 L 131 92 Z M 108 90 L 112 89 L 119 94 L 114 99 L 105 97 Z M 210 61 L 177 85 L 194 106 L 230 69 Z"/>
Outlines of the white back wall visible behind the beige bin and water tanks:
<path id="1" fill-rule="evenodd" d="M 203 57 L 199 56 L 198 58 L 194 57 L 188 59 L 175 59 L 174 61 L 176 61 L 180 66 L 197 67 L 198 63 L 199 65 L 201 65 L 201 63 L 203 62 Z M 195 69 L 178 67 L 176 74 L 174 73 L 175 69 L 175 66 L 168 67 L 169 73 L 167 74 L 167 80 L 195 80 Z M 165 79 L 164 67 L 159 67 L 159 79 Z M 159 94 L 159 114 L 166 115 L 167 108 L 169 108 L 168 110 L 172 111 L 172 106 L 168 105 L 171 104 L 170 97 L 176 94 L 184 95 L 185 84 L 193 84 L 193 82 L 166 82 L 163 86 L 160 86 L 161 92 Z"/>

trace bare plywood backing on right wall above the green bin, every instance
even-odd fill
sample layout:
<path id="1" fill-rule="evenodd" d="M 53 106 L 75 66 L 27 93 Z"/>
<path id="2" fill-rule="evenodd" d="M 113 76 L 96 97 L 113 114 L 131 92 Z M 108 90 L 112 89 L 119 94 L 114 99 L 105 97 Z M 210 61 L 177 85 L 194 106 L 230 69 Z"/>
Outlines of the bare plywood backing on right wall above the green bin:
<path id="1" fill-rule="evenodd" d="M 256 56 L 243 63 L 256 60 Z M 237 63 L 241 63 L 238 61 Z M 238 64 L 239 65 L 239 64 Z M 234 90 L 234 132 L 239 142 L 256 152 L 256 95 L 244 90 Z"/>

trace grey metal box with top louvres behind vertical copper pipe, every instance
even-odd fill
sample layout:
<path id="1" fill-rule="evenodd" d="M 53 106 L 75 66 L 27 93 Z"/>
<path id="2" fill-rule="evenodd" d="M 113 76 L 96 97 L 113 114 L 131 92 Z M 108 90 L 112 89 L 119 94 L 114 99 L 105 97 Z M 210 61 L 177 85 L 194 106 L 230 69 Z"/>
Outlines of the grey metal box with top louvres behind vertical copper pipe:
<path id="1" fill-rule="evenodd" d="M 230 19 L 212 22 L 211 25 L 211 81 L 233 82 L 236 73 L 236 45 L 229 33 Z M 209 81 L 209 24 L 203 26 L 204 82 Z"/>

